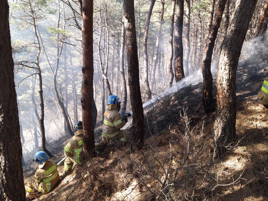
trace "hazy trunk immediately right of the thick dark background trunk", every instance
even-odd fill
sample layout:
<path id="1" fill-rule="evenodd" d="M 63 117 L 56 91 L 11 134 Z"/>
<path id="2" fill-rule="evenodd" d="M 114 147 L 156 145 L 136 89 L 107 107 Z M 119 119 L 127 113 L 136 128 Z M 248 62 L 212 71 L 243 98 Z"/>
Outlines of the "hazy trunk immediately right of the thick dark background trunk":
<path id="1" fill-rule="evenodd" d="M 189 57 L 190 57 L 190 15 L 191 15 L 191 0 L 186 2 L 186 20 L 185 20 L 185 56 L 184 56 L 184 69 L 185 76 L 189 76 Z"/>

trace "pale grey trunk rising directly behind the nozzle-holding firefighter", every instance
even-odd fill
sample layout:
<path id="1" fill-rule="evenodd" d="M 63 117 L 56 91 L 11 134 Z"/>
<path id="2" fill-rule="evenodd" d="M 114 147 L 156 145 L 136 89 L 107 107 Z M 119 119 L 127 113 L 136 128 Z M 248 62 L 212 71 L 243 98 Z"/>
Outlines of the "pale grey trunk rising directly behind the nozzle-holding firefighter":
<path id="1" fill-rule="evenodd" d="M 124 13 L 123 13 L 124 14 Z M 124 19 L 122 19 L 124 20 Z M 122 24 L 122 31 L 121 31 L 121 48 L 120 48 L 120 74 L 121 79 L 123 81 L 123 104 L 121 108 L 121 114 L 126 113 L 126 102 L 127 102 L 127 91 L 126 91 L 126 78 L 125 78 L 125 69 L 124 69 L 124 53 L 125 53 L 125 27 L 124 24 Z"/>

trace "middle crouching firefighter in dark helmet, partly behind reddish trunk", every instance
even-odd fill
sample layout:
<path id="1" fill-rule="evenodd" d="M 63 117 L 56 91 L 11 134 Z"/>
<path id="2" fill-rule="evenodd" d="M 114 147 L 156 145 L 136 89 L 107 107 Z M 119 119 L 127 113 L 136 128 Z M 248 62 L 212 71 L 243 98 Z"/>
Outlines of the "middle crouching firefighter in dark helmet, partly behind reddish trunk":
<path id="1" fill-rule="evenodd" d="M 64 172 L 66 174 L 72 170 L 73 164 L 82 165 L 81 154 L 83 148 L 83 123 L 77 121 L 75 124 L 75 136 L 73 136 L 64 147 Z"/>

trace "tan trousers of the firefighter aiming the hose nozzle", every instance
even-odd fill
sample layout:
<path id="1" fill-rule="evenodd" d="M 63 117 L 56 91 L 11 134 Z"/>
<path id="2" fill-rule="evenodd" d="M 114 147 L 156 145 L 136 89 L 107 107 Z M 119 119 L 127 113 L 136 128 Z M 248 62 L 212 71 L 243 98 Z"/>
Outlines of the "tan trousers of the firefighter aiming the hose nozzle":
<path id="1" fill-rule="evenodd" d="M 119 133 L 113 137 L 108 137 L 108 136 L 102 134 L 101 142 L 99 142 L 95 146 L 96 153 L 99 154 L 102 151 L 104 151 L 108 142 L 110 142 L 111 140 L 118 140 L 118 142 L 120 144 L 124 144 L 125 142 L 128 141 L 127 139 L 128 139 L 129 133 L 130 132 L 127 130 L 120 130 Z"/>

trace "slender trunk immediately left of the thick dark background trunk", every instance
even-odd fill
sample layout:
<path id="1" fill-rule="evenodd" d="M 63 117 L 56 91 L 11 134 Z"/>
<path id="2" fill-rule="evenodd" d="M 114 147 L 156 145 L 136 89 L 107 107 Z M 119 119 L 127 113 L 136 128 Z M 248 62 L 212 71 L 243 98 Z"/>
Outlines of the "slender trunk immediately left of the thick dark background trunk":
<path id="1" fill-rule="evenodd" d="M 174 32 L 174 15 L 175 15 L 176 0 L 172 0 L 171 14 L 170 14 L 170 35 L 169 35 L 169 87 L 172 86 L 174 73 L 172 69 L 173 62 L 173 32 Z"/>

